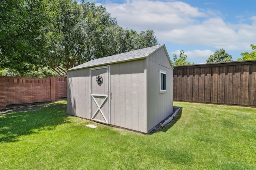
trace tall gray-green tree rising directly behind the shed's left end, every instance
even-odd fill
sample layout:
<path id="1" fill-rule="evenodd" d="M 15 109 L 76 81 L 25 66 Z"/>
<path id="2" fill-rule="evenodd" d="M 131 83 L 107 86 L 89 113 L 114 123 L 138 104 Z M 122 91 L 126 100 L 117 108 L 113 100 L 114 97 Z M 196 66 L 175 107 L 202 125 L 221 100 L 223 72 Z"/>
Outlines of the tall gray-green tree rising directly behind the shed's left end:
<path id="1" fill-rule="evenodd" d="M 54 19 L 48 34 L 48 53 L 44 59 L 50 68 L 66 76 L 66 69 L 109 54 L 109 37 L 113 35 L 116 20 L 105 7 L 65 0 L 58 8 L 60 15 Z"/>

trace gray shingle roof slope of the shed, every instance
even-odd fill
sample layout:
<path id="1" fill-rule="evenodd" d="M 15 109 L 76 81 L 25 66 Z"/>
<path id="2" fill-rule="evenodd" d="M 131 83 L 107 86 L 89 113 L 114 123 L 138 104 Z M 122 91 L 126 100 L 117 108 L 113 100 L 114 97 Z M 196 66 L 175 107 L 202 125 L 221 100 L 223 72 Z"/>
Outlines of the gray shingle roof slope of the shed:
<path id="1" fill-rule="evenodd" d="M 78 66 L 72 67 L 69 70 L 76 70 L 80 68 L 86 68 L 91 66 L 100 66 L 104 64 L 111 64 L 111 63 L 119 63 L 119 62 L 125 62 L 125 61 L 131 61 L 135 59 L 142 59 L 148 57 L 150 54 L 152 54 L 154 51 L 158 50 L 164 45 L 156 45 L 153 47 L 148 47 L 144 49 L 138 49 L 126 53 L 121 53 L 117 55 L 112 55 L 108 57 L 102 57 L 100 59 L 94 59 L 91 61 L 88 61 L 86 63 L 80 64 Z"/>

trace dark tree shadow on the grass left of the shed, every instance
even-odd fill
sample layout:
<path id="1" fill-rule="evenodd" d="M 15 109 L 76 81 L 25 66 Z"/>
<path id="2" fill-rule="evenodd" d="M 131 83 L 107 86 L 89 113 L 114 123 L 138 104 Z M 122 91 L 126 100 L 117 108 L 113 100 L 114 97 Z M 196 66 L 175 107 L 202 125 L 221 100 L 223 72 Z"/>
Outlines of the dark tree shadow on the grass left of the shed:
<path id="1" fill-rule="evenodd" d="M 66 102 L 44 104 L 36 111 L 0 115 L 0 143 L 18 141 L 20 136 L 52 130 L 68 123 Z"/>

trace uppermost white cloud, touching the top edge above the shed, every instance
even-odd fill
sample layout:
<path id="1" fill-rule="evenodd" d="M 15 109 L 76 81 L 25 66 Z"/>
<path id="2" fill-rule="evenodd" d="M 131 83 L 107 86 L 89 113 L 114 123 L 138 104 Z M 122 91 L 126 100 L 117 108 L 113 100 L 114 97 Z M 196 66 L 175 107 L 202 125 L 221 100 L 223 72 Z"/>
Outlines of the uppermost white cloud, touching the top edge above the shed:
<path id="1" fill-rule="evenodd" d="M 137 31 L 169 30 L 195 23 L 194 18 L 207 17 L 204 12 L 179 1 L 129 1 L 126 4 L 107 4 L 107 11 L 117 17 L 118 24 Z"/>

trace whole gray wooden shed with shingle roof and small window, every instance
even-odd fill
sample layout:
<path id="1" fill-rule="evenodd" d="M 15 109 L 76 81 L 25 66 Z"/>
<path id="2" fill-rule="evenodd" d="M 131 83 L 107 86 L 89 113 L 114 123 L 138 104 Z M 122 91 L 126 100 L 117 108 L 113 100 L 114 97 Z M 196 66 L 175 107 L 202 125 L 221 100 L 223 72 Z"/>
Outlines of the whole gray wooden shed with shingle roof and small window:
<path id="1" fill-rule="evenodd" d="M 88 61 L 68 70 L 68 114 L 149 133 L 173 112 L 165 45 Z"/>

